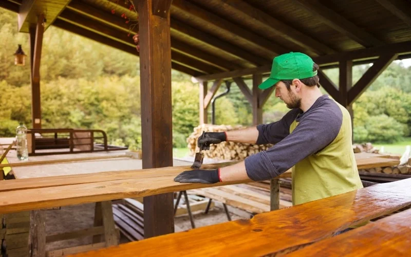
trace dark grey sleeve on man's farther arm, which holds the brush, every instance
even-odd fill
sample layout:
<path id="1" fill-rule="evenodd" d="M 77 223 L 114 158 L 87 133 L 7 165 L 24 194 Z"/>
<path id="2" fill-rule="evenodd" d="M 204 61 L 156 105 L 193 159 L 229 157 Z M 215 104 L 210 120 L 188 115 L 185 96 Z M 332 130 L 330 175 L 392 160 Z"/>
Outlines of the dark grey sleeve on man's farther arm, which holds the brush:
<path id="1" fill-rule="evenodd" d="M 275 144 L 290 134 L 290 125 L 300 113 L 300 109 L 292 109 L 276 122 L 257 125 L 258 138 L 256 144 Z"/>

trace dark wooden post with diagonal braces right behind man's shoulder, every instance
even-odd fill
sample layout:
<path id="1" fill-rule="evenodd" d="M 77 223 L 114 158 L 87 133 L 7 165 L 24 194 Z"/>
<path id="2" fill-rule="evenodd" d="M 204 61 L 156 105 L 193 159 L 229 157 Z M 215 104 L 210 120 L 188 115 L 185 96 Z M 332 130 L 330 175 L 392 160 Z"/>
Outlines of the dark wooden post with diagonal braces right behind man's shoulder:
<path id="1" fill-rule="evenodd" d="M 353 130 L 354 130 L 354 113 L 352 110 L 352 104 L 348 103 L 348 91 L 352 87 L 352 61 L 351 60 L 341 60 L 340 61 L 340 81 L 339 81 L 339 90 L 340 90 L 340 104 L 347 108 L 351 116 L 351 126 L 352 134 L 351 138 L 353 139 Z"/>

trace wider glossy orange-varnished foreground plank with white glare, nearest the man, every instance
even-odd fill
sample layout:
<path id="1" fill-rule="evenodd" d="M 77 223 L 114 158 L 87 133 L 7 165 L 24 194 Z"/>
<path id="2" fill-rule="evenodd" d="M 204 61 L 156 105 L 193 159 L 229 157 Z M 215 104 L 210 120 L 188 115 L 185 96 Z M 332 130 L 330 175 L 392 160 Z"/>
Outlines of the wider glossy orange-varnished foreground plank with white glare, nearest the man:
<path id="1" fill-rule="evenodd" d="M 261 256 L 287 253 L 411 205 L 411 179 L 76 256 Z M 337 237 L 336 237 L 337 238 Z M 335 246 L 338 247 L 338 246 Z M 388 255 L 387 255 L 388 256 Z"/>

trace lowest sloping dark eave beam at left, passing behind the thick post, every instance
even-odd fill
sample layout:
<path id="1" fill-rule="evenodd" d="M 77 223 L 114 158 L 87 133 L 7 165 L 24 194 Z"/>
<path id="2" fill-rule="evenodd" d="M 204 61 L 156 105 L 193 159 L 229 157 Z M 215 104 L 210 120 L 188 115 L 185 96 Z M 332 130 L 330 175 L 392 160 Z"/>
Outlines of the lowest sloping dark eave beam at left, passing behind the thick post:
<path id="1" fill-rule="evenodd" d="M 102 35 L 102 34 L 99 34 L 99 33 L 96 33 L 96 32 L 92 32 L 92 31 L 87 30 L 83 27 L 79 27 L 78 25 L 74 25 L 74 24 L 72 24 L 68 21 L 61 20 L 60 18 L 58 20 L 54 21 L 53 26 L 64 29 L 66 31 L 69 31 L 69 32 L 72 32 L 72 33 L 75 33 L 75 34 L 78 34 L 80 36 L 83 36 L 84 38 L 91 39 L 93 41 L 102 43 L 104 45 L 117 48 L 117 49 L 125 51 L 127 53 L 131 53 L 135 56 L 139 56 L 138 52 L 136 51 L 135 45 L 133 46 L 131 44 L 124 44 L 124 43 L 122 43 L 118 40 L 113 40 L 111 38 L 107 38 L 105 35 Z M 117 34 L 118 34 L 118 32 L 117 32 Z M 123 37 L 122 35 L 119 35 L 120 39 L 122 37 Z M 177 63 L 172 63 L 172 68 L 175 69 L 175 70 L 184 72 L 186 74 L 189 74 L 191 76 L 196 76 L 198 74 L 203 74 L 203 72 L 191 69 L 191 68 L 186 67 L 186 66 L 179 65 Z"/>

